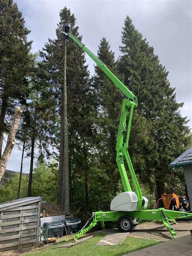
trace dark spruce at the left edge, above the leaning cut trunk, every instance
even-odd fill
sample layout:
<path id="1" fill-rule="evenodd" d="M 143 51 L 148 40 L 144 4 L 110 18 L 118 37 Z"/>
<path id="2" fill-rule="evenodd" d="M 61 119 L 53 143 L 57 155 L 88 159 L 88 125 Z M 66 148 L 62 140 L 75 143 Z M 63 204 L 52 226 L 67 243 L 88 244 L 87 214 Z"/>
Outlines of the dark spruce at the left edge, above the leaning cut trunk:
<path id="1" fill-rule="evenodd" d="M 9 130 L 14 106 L 25 105 L 33 58 L 32 41 L 13 0 L 0 1 L 0 157 L 3 133 Z"/>

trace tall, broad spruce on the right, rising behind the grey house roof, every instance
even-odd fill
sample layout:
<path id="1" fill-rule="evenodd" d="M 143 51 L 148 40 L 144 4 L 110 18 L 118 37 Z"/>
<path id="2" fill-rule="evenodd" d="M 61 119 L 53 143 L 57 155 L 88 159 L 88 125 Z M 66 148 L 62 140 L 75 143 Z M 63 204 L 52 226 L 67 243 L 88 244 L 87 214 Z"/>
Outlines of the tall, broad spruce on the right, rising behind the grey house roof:
<path id="1" fill-rule="evenodd" d="M 168 71 L 154 54 L 146 38 L 139 33 L 130 17 L 126 17 L 122 31 L 119 71 L 124 83 L 138 97 L 138 111 L 151 123 L 155 158 L 147 155 L 149 169 L 154 170 L 158 197 L 165 192 L 165 181 L 169 174 L 168 164 L 178 156 L 188 143 L 186 118 L 179 109 L 183 103 L 175 99 L 175 88 L 167 78 Z M 150 175 L 149 175 L 150 177 Z"/>

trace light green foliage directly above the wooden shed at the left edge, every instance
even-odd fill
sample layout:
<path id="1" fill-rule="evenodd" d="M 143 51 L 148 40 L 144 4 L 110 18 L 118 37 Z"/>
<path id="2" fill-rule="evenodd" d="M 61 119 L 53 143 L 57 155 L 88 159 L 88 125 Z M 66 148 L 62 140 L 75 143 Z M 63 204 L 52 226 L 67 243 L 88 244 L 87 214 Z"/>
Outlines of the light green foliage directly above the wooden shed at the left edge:
<path id="1" fill-rule="evenodd" d="M 17 199 L 17 191 L 19 185 L 19 173 L 16 173 L 5 183 L 0 190 L 0 203 Z M 22 174 L 20 198 L 27 196 L 28 181 L 26 175 Z"/>

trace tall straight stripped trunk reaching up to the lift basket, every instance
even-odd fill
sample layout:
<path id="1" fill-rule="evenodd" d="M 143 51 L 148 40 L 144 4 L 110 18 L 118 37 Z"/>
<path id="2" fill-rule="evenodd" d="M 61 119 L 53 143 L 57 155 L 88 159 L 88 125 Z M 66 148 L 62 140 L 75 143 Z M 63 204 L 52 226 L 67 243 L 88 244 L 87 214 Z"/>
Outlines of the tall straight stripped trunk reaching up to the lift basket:
<path id="1" fill-rule="evenodd" d="M 69 203 L 69 166 L 68 166 L 68 127 L 67 127 L 67 84 L 66 84 L 66 39 L 64 41 L 64 158 L 63 158 L 63 179 L 62 179 L 62 201 L 61 208 L 70 213 Z"/>

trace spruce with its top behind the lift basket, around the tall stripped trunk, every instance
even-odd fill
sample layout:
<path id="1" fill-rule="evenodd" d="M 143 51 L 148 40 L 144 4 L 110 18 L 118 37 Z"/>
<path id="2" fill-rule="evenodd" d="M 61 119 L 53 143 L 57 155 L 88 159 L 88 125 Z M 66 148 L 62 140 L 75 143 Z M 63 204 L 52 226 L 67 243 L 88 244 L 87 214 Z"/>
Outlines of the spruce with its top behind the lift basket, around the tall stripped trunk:
<path id="1" fill-rule="evenodd" d="M 70 9 L 64 7 L 60 11 L 60 22 L 56 29 L 57 39 L 51 40 L 45 44 L 45 47 L 40 52 L 43 58 L 42 69 L 44 70 L 44 81 L 47 82 L 47 86 L 55 93 L 55 98 L 58 98 L 58 116 L 60 126 L 60 158 L 59 158 L 59 173 L 58 173 L 58 200 L 57 203 L 62 206 L 61 194 L 62 194 L 62 180 L 65 175 L 63 169 L 63 156 L 64 156 L 64 123 L 61 119 L 61 107 L 62 107 L 62 85 L 64 83 L 64 36 L 60 31 L 60 28 L 64 27 L 65 23 L 69 23 L 72 27 L 72 32 L 80 40 L 81 37 L 78 33 L 78 27 L 75 25 L 76 19 L 74 14 L 70 13 Z M 68 109 L 68 135 L 69 135 L 69 177 L 71 176 L 71 158 L 73 155 L 74 138 L 78 136 L 77 119 L 81 114 L 81 107 L 83 100 L 85 100 L 85 92 L 87 90 L 87 66 L 85 66 L 85 54 L 73 40 L 68 40 L 66 45 L 66 86 L 67 86 L 67 109 Z M 66 174 L 68 175 L 68 174 Z M 69 181 L 70 183 L 70 181 Z M 65 194 L 64 196 L 67 196 Z M 69 200 L 69 198 L 67 199 Z M 63 206 L 62 206 L 63 207 Z M 65 206 L 64 206 L 65 209 Z M 66 209 L 69 211 L 69 209 Z"/>

